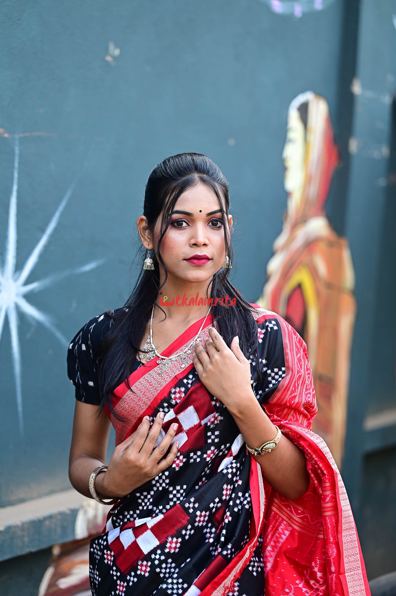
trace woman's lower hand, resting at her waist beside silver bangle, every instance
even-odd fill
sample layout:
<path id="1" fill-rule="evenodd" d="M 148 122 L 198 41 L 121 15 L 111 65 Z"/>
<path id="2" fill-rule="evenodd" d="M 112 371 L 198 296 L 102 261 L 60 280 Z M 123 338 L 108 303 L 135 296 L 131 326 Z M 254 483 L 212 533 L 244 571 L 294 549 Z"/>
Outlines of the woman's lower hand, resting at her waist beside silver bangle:
<path id="1" fill-rule="evenodd" d="M 95 489 L 101 498 L 121 498 L 128 495 L 173 463 L 179 449 L 179 441 L 173 443 L 169 454 L 163 460 L 161 458 L 168 451 L 176 434 L 176 423 L 170 425 L 168 432 L 154 449 L 163 420 L 164 412 L 158 412 L 150 429 L 149 418 L 144 417 L 135 432 L 117 445 L 107 470 L 98 474 L 95 480 Z"/>

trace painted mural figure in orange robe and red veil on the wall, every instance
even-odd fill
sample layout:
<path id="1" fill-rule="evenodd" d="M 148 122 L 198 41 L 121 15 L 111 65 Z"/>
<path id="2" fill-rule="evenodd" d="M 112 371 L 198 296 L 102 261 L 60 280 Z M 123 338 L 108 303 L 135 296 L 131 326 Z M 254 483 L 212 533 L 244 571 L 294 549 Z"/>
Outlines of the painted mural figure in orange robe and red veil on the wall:
<path id="1" fill-rule="evenodd" d="M 257 303 L 282 315 L 306 342 L 318 408 L 313 430 L 341 467 L 356 300 L 348 241 L 325 213 L 338 150 L 328 103 L 320 95 L 308 91 L 290 104 L 283 163 L 283 229 Z"/>

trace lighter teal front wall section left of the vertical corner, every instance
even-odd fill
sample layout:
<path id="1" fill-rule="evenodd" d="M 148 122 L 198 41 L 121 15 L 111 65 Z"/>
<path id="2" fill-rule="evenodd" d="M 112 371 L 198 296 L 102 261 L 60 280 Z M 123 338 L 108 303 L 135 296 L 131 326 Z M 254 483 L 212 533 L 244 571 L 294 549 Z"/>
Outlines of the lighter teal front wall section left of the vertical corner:
<path id="1" fill-rule="evenodd" d="M 342 5 L 300 21 L 258 0 L 5 2 L 0 126 L 20 138 L 17 268 L 76 186 L 29 277 L 105 259 L 26 297 L 70 340 L 102 308 L 126 299 L 136 272 L 136 219 L 152 167 L 198 151 L 231 187 L 235 285 L 260 294 L 285 209 L 282 145 L 286 111 L 313 88 L 336 110 Z M 210 15 L 210 18 L 208 18 Z M 280 36 L 282 44 L 279 44 Z M 108 42 L 120 55 L 105 60 Z M 229 145 L 229 139 L 235 145 Z M 0 138 L 0 241 L 13 182 L 14 139 Z M 0 245 L 1 246 L 1 245 Z M 247 266 L 254 254 L 254 266 Z M 0 504 L 68 488 L 73 388 L 66 346 L 20 316 L 25 436 L 18 431 L 10 334 L 0 362 L 7 425 L 0 435 Z"/>

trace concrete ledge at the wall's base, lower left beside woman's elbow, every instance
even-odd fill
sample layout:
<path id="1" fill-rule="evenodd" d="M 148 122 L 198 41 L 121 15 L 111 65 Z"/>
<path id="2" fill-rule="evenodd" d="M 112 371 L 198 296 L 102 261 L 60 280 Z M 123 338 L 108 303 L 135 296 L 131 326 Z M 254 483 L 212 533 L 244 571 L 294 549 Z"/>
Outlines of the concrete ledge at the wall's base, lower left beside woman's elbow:
<path id="1" fill-rule="evenodd" d="M 85 538 L 93 528 L 103 527 L 108 509 L 74 489 L 2 507 L 0 561 Z"/>

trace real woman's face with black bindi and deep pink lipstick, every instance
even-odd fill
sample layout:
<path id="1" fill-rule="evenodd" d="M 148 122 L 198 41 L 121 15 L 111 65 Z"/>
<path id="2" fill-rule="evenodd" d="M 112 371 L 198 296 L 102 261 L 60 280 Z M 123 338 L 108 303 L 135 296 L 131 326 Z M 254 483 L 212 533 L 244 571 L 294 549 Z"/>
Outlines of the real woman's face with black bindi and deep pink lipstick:
<path id="1" fill-rule="evenodd" d="M 161 242 L 161 256 L 168 275 L 194 283 L 213 277 L 226 257 L 224 225 L 227 225 L 227 228 L 228 225 L 229 228 L 232 226 L 232 216 L 228 217 L 229 224 L 223 222 L 216 194 L 202 182 L 180 195 Z M 155 247 L 160 237 L 160 218 L 154 229 Z M 229 229 L 227 233 L 229 238 Z M 206 254 L 210 260 L 202 265 L 195 265 L 186 260 L 194 254 Z"/>

